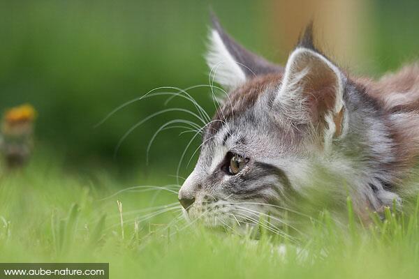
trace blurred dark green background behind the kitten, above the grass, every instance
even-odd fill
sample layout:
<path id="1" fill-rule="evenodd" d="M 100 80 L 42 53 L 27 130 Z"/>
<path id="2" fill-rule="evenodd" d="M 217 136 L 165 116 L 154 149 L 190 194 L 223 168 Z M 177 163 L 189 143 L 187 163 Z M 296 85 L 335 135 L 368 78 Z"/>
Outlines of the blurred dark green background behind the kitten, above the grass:
<path id="1" fill-rule="evenodd" d="M 328 6 L 339 1 L 321 2 Z M 357 2 L 348 14 L 323 10 L 332 28 L 334 21 L 351 18 L 351 13 L 355 19 L 362 17 L 357 28 L 336 25 L 339 29 L 332 36 L 337 40 L 356 38 L 352 43 L 357 54 L 338 59 L 342 66 L 377 76 L 416 58 L 418 1 Z M 208 84 L 203 54 L 210 7 L 240 43 L 284 63 L 291 40 L 287 29 L 293 23 L 277 24 L 287 15 L 288 4 L 274 0 L 0 1 L 0 110 L 34 105 L 36 152 L 61 156 L 77 169 L 94 165 L 118 172 L 152 169 L 175 174 L 191 133 L 163 131 L 151 149 L 148 166 L 145 153 L 152 135 L 166 121 L 196 121 L 184 113 L 164 114 L 140 126 L 113 158 L 117 142 L 131 126 L 166 108 L 165 97 L 133 103 L 98 128 L 94 125 L 118 105 L 156 87 Z M 309 6 L 300 6 L 304 8 Z M 288 17 L 302 15 L 298 9 Z M 339 58 L 339 50 L 332 56 Z M 209 89 L 190 93 L 209 114 L 214 112 Z M 167 107 L 193 109 L 180 100 Z M 186 162 L 198 146 L 199 139 Z M 188 172 L 184 167 L 183 175 Z"/>

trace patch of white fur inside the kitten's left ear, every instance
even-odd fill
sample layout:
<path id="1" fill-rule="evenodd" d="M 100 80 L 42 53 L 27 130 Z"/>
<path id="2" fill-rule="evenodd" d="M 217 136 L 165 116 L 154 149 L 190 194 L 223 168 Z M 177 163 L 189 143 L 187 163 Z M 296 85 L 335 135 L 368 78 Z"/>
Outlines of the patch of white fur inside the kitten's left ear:
<path id="1" fill-rule="evenodd" d="M 228 52 L 226 45 L 218 31 L 210 31 L 210 44 L 206 55 L 210 67 L 210 79 L 227 88 L 234 88 L 246 81 L 246 75 L 233 56 Z"/>

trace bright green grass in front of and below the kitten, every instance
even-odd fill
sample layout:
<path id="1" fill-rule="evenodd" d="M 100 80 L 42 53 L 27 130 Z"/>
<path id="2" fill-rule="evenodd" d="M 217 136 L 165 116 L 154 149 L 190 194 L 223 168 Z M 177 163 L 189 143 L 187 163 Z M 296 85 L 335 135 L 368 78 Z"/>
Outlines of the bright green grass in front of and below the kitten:
<path id="1" fill-rule="evenodd" d="M 157 177 L 160 177 L 157 179 Z M 163 185 L 161 174 L 134 179 Z M 80 176 L 52 160 L 1 174 L 0 262 L 109 262 L 110 278 L 417 278 L 418 207 L 360 226 L 335 225 L 327 211 L 307 220 L 295 245 L 260 230 L 214 232 L 179 212 L 144 220 L 151 206 L 176 202 L 168 191 L 120 193 L 134 183 L 107 174 Z M 165 181 L 166 180 L 166 181 Z M 123 229 L 117 200 L 122 202 Z M 135 211 L 135 212 L 133 212 Z M 137 222 L 135 222 L 137 220 Z M 124 232 L 124 237 L 122 236 Z M 281 249 L 286 248 L 286 252 Z"/>

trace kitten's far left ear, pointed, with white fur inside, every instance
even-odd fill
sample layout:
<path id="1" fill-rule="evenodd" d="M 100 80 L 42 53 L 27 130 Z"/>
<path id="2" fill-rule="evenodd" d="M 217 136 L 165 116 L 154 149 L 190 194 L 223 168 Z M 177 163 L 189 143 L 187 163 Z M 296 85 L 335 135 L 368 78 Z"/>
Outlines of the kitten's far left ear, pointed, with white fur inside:
<path id="1" fill-rule="evenodd" d="M 208 49 L 206 59 L 211 70 L 210 77 L 227 88 L 239 86 L 258 75 L 284 70 L 236 43 L 223 31 L 214 15 Z"/>

